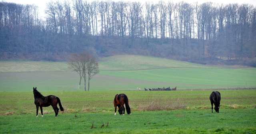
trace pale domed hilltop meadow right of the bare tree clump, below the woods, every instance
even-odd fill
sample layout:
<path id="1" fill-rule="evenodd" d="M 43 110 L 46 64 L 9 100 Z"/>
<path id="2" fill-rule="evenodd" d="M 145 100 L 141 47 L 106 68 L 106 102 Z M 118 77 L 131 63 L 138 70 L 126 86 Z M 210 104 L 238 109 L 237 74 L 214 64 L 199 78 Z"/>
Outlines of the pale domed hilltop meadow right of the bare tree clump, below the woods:
<path id="1" fill-rule="evenodd" d="M 147 70 L 163 68 L 219 68 L 152 56 L 118 55 L 102 58 L 100 70 Z"/>

